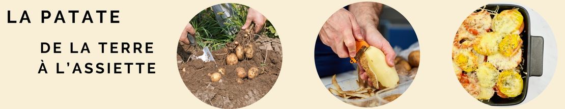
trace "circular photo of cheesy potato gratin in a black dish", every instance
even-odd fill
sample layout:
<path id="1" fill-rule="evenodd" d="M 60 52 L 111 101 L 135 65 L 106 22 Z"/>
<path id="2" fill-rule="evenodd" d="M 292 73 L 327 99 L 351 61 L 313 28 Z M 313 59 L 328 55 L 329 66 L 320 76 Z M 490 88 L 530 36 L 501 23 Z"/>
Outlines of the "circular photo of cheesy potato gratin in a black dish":
<path id="1" fill-rule="evenodd" d="M 544 44 L 544 38 L 551 40 Z M 555 71 L 556 51 L 553 33 L 536 12 L 520 5 L 489 4 L 463 20 L 451 59 L 457 79 L 473 98 L 511 106 L 545 89 Z"/>

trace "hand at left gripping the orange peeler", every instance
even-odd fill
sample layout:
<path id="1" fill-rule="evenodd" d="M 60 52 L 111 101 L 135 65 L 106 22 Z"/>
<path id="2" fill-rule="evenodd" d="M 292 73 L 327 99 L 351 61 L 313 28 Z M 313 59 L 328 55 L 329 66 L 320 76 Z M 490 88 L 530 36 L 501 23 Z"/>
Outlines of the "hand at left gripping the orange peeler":
<path id="1" fill-rule="evenodd" d="M 340 58 L 354 57 L 357 54 L 355 40 L 363 40 L 362 29 L 355 16 L 345 8 L 330 16 L 319 34 L 324 45 L 331 47 Z"/>

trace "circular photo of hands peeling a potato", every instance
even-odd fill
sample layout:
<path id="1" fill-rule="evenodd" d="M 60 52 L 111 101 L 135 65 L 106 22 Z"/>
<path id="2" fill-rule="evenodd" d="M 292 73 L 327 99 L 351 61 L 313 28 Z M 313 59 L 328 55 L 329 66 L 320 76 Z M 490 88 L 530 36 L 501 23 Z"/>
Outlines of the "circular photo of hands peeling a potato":
<path id="1" fill-rule="evenodd" d="M 328 95 L 359 107 L 394 101 L 420 64 L 414 29 L 394 8 L 358 2 L 325 21 L 314 49 L 316 71 Z"/>

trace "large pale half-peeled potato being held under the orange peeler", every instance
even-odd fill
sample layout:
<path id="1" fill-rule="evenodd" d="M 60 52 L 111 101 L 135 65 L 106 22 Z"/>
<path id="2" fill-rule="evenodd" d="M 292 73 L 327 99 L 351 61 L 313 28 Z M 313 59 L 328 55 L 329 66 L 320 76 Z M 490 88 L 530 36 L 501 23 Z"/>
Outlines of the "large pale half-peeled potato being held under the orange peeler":
<path id="1" fill-rule="evenodd" d="M 379 86 L 379 83 L 384 88 L 398 85 L 400 79 L 396 69 L 388 66 L 385 54 L 377 47 L 369 46 L 360 57 L 359 63 L 365 69 L 373 86 Z"/>

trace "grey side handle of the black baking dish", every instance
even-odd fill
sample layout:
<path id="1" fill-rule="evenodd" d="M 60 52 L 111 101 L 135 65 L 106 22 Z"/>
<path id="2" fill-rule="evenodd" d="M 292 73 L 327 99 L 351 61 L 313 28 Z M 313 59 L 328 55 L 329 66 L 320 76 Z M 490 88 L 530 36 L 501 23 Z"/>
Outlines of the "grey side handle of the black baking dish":
<path id="1" fill-rule="evenodd" d="M 544 37 L 532 36 L 530 38 L 530 76 L 541 76 L 544 71 Z"/>

